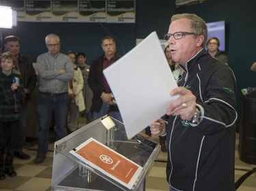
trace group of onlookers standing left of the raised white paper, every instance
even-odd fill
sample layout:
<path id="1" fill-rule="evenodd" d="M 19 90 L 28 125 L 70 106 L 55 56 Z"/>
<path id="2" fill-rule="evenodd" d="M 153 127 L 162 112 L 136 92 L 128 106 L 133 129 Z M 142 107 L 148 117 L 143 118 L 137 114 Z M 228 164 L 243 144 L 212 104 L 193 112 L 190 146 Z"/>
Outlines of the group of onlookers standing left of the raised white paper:
<path id="1" fill-rule="evenodd" d="M 27 105 L 31 92 L 38 86 L 36 110 L 38 116 L 38 150 L 35 164 L 44 162 L 48 152 L 49 127 L 55 124 L 56 141 L 78 128 L 79 116 L 87 123 L 106 114 L 122 122 L 115 97 L 102 73 L 120 56 L 115 39 L 103 37 L 103 54 L 87 65 L 84 52 L 60 52 L 61 41 L 56 34 L 45 37 L 47 52 L 36 60 L 20 54 L 20 39 L 5 37 L 5 52 L 0 67 L 0 180 L 5 174 L 15 177 L 14 157 L 29 160 L 23 152 L 26 133 Z M 15 82 L 14 82 L 15 79 Z M 53 118 L 54 116 L 54 118 Z M 117 139 L 127 139 L 124 127 L 117 126 Z"/>

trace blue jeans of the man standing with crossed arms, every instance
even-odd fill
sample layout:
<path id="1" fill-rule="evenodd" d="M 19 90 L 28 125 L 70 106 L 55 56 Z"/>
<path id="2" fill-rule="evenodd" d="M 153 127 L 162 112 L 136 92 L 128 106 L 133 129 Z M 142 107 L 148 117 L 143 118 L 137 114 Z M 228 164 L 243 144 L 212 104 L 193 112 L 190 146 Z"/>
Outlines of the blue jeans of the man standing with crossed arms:
<path id="1" fill-rule="evenodd" d="M 39 93 L 38 97 L 38 155 L 46 156 L 49 144 L 51 117 L 55 115 L 56 141 L 66 137 L 68 115 L 68 93 L 58 97 Z"/>

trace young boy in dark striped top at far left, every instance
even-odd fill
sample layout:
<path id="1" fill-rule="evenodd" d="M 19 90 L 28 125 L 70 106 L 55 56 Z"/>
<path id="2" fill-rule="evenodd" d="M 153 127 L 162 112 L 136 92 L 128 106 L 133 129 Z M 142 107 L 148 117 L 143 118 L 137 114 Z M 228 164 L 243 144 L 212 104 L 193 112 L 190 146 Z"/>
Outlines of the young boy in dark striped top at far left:
<path id="1" fill-rule="evenodd" d="M 17 64 L 16 57 L 10 52 L 0 56 L 0 180 L 5 174 L 15 177 L 13 168 L 15 132 L 21 114 L 23 83 L 20 75 L 12 73 Z M 4 158 L 5 156 L 5 158 Z"/>

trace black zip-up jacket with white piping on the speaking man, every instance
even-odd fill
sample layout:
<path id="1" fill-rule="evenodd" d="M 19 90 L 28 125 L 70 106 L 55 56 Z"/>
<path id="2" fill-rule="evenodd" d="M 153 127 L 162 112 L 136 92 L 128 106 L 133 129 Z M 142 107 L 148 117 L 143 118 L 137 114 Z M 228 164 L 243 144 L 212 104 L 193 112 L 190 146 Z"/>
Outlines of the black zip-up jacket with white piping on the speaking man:
<path id="1" fill-rule="evenodd" d="M 202 49 L 188 60 L 178 86 L 191 90 L 203 120 L 195 125 L 170 116 L 167 181 L 177 190 L 233 191 L 237 119 L 236 78 Z"/>

